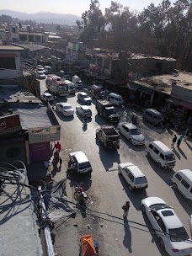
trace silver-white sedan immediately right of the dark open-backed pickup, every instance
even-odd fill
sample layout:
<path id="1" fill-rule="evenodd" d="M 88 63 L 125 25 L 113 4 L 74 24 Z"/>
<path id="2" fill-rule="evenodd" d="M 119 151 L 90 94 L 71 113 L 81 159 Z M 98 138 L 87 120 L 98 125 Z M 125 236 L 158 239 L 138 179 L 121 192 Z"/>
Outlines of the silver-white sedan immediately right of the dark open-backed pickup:
<path id="1" fill-rule="evenodd" d="M 127 138 L 128 141 L 133 145 L 144 145 L 145 136 L 141 133 L 140 129 L 133 125 L 132 123 L 121 122 L 117 129 L 120 133 Z"/>

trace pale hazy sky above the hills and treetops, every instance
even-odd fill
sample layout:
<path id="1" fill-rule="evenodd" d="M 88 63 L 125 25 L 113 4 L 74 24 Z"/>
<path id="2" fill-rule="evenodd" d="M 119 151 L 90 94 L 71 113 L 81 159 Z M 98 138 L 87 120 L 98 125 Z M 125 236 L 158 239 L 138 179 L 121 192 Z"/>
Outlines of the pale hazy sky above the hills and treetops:
<path id="1" fill-rule="evenodd" d="M 128 6 L 131 10 L 141 11 L 143 8 L 147 8 L 150 3 L 154 3 L 157 6 L 163 0 L 116 0 L 115 2 Z M 171 2 L 174 3 L 176 0 L 171 0 Z M 88 10 L 90 3 L 90 0 L 0 0 L 0 9 L 24 13 L 37 13 L 41 11 L 70 13 L 81 16 L 85 10 Z M 110 6 L 111 0 L 100 0 L 99 3 L 100 8 L 104 11 L 104 8 Z"/>

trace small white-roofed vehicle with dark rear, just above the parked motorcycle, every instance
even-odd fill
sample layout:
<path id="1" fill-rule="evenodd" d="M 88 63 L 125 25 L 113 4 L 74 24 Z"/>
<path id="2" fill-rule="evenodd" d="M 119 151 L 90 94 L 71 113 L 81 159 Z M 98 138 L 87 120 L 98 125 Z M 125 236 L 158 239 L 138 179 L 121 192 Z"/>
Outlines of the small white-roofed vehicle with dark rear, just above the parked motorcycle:
<path id="1" fill-rule="evenodd" d="M 76 173 L 92 173 L 88 157 L 82 151 L 70 153 L 69 158 L 69 165 L 72 167 L 72 171 Z"/>

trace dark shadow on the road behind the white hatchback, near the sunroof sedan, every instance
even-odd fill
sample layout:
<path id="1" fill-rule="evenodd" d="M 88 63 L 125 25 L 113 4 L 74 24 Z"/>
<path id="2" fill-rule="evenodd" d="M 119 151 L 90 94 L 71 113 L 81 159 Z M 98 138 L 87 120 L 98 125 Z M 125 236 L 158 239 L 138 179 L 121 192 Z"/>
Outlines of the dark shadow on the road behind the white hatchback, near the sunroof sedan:
<path id="1" fill-rule="evenodd" d="M 121 173 L 119 173 L 119 177 L 120 177 L 120 182 L 123 185 L 123 190 L 125 190 L 127 197 L 131 200 L 131 203 L 136 208 L 136 211 L 140 211 L 141 210 L 141 200 L 143 200 L 144 198 L 147 198 L 146 189 L 136 190 L 136 191 L 131 192 L 131 190 L 128 189 L 128 184 L 125 181 L 125 179 Z"/>

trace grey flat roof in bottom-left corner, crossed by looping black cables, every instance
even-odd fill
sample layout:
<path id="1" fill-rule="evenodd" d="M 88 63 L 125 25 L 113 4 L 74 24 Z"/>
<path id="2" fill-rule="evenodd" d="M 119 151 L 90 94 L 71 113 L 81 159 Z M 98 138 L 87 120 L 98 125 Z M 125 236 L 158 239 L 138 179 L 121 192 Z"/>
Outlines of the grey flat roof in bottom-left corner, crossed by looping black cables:
<path id="1" fill-rule="evenodd" d="M 2 166 L 1 169 L 3 169 Z M 21 174 L 21 182 L 28 184 L 24 169 L 17 170 Z M 4 192 L 0 196 L 0 204 L 3 204 L 1 205 L 1 211 L 4 210 L 1 212 L 0 218 L 0 256 L 43 255 L 34 206 L 30 201 L 30 189 L 27 187 L 24 187 L 22 191 L 21 189 L 22 185 L 5 184 Z M 17 195 L 19 195 L 18 198 Z M 5 202 L 5 200 L 7 201 Z"/>

